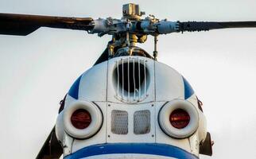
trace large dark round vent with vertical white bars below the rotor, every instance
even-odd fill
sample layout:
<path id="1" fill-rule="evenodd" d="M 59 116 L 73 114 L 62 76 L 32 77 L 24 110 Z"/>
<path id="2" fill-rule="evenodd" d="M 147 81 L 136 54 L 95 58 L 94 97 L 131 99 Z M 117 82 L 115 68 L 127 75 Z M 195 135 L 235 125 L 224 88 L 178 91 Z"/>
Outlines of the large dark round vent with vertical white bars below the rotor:
<path id="1" fill-rule="evenodd" d="M 149 75 L 146 60 L 127 57 L 116 62 L 114 69 L 116 97 L 127 103 L 137 103 L 147 97 Z"/>

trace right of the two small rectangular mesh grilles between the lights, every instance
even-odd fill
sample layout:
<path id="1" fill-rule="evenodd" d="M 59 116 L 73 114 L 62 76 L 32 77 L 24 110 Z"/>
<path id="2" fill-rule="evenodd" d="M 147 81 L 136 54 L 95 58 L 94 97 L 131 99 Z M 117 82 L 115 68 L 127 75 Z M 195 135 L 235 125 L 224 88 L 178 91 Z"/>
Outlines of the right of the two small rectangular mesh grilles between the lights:
<path id="1" fill-rule="evenodd" d="M 150 132 L 150 111 L 135 111 L 134 134 L 148 134 Z"/>

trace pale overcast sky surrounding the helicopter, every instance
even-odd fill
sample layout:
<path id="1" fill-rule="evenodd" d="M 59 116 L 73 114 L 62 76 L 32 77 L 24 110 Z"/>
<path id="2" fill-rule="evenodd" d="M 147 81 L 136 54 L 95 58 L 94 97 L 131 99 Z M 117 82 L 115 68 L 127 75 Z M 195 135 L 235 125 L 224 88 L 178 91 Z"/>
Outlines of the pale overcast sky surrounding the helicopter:
<path id="1" fill-rule="evenodd" d="M 173 21 L 256 20 L 252 0 L 0 0 L 0 12 L 121 17 L 122 4 Z M 41 28 L 0 35 L 0 158 L 35 158 L 55 124 L 59 101 L 111 37 Z M 142 45 L 153 52 L 153 39 Z M 256 29 L 173 33 L 159 38 L 158 60 L 180 72 L 204 103 L 212 157 L 256 158 Z"/>

